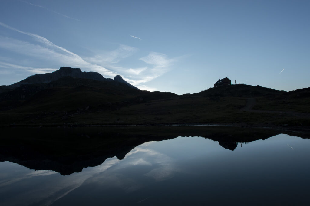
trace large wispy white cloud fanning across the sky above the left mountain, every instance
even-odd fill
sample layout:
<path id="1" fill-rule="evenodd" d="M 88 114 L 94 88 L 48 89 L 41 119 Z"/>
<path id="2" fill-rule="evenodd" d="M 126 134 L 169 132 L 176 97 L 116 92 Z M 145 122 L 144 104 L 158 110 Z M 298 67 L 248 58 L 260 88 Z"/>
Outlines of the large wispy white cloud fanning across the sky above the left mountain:
<path id="1" fill-rule="evenodd" d="M 0 22 L 0 26 L 32 38 L 29 39 L 29 41 L 26 39 L 19 40 L 0 36 L 0 48 L 15 52 L 21 57 L 24 57 L 24 59 L 21 58 L 19 61 L 16 61 L 16 59 L 0 59 L 0 67 L 7 68 L 7 70 L 12 70 L 14 68 L 24 69 L 34 74 L 52 72 L 60 66 L 69 66 L 81 68 L 86 71 L 99 72 L 104 77 L 110 78 L 120 74 L 128 83 L 142 90 L 154 91 L 157 89 L 149 87 L 146 83 L 169 71 L 173 63 L 177 61 L 177 58 L 171 59 L 165 54 L 151 52 L 141 58 L 138 57 L 135 60 L 133 60 L 133 58 L 131 59 L 129 64 L 132 62 L 135 64 L 134 61 L 136 61 L 136 64 L 140 65 L 139 67 L 124 67 L 122 66 L 124 65 L 122 62 L 123 59 L 132 56 L 139 51 L 139 49 L 120 44 L 115 50 L 101 51 L 100 55 L 82 58 L 37 34 L 21 31 L 2 22 Z M 35 59 L 35 61 L 31 60 L 32 58 Z M 33 64 L 33 62 L 35 62 L 35 64 Z M 34 65 L 40 65 L 40 62 L 44 62 L 44 64 L 51 66 L 49 66 L 50 68 L 41 68 L 40 66 L 36 68 Z M 128 65 L 128 62 L 125 64 Z"/>

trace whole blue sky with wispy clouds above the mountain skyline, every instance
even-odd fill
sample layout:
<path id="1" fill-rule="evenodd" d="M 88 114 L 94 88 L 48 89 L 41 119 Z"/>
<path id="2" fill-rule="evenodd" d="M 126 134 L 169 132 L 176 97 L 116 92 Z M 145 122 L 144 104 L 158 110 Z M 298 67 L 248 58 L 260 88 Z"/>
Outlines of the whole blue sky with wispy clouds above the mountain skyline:
<path id="1" fill-rule="evenodd" d="M 310 87 L 310 1 L 1 0 L 0 85 L 67 66 L 141 90 Z"/>

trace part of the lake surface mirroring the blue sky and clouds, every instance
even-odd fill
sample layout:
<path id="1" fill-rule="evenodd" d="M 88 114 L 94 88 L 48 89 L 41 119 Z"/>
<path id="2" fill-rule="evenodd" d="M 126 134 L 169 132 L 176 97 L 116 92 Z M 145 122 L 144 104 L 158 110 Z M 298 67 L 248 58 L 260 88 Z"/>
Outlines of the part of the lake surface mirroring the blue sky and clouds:
<path id="1" fill-rule="evenodd" d="M 310 205 L 309 139 L 224 147 L 201 137 L 146 142 L 65 176 L 1 162 L 0 204 Z"/>

